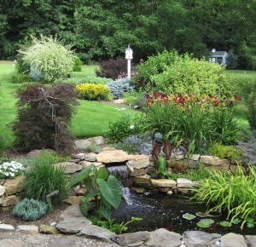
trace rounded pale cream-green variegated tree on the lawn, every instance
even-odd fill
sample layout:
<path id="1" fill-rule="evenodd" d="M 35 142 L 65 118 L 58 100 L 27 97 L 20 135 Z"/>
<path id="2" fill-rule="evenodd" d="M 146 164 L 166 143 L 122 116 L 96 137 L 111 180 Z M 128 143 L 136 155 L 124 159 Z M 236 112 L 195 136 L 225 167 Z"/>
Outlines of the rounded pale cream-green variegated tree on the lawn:
<path id="1" fill-rule="evenodd" d="M 44 77 L 47 82 L 67 78 L 75 60 L 72 44 L 65 45 L 64 40 L 57 37 L 31 37 L 32 46 L 18 52 L 24 63 L 31 67 L 32 77 Z"/>

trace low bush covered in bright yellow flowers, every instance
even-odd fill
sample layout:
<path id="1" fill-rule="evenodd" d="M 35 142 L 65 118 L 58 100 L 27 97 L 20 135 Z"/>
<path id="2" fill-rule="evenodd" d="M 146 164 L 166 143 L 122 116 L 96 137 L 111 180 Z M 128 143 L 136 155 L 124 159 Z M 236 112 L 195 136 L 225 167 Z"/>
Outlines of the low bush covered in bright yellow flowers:
<path id="1" fill-rule="evenodd" d="M 84 100 L 105 100 L 110 90 L 104 84 L 81 83 L 76 86 L 77 94 Z"/>

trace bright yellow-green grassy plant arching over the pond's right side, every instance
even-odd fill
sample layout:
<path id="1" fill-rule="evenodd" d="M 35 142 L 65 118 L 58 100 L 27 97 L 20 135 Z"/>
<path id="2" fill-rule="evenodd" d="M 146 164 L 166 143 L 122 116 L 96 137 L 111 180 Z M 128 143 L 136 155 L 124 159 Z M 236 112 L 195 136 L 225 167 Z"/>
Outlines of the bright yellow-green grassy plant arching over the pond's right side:
<path id="1" fill-rule="evenodd" d="M 246 222 L 252 222 L 253 225 L 256 213 L 256 174 L 253 166 L 248 165 L 248 169 L 248 175 L 244 174 L 240 164 L 237 164 L 234 173 L 229 170 L 210 171 L 212 175 L 200 181 L 200 187 L 191 188 L 196 193 L 190 199 L 206 203 L 208 211 L 226 210 L 230 225 L 237 218 L 241 218 L 241 229 Z"/>

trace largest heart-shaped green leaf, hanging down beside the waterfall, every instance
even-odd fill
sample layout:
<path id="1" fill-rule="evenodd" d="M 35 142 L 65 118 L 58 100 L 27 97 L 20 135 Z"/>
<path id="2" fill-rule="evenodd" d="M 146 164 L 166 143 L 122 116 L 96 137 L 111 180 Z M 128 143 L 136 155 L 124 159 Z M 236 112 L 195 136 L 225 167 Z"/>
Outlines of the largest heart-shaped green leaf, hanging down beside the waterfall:
<path id="1" fill-rule="evenodd" d="M 108 181 L 104 181 L 101 178 L 98 178 L 97 183 L 99 185 L 102 196 L 106 198 L 109 204 L 117 209 L 121 203 L 122 196 L 122 188 L 119 185 L 118 179 L 113 175 L 109 175 Z"/>

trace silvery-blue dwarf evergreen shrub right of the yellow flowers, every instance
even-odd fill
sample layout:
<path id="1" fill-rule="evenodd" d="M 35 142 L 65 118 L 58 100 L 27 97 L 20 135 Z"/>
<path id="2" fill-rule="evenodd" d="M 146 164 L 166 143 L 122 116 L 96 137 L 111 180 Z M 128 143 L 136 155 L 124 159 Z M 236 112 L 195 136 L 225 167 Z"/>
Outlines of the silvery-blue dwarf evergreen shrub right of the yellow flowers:
<path id="1" fill-rule="evenodd" d="M 106 86 L 110 89 L 113 99 L 122 98 L 125 92 L 131 92 L 133 90 L 131 79 L 129 78 L 120 78 L 116 81 L 106 83 Z"/>

